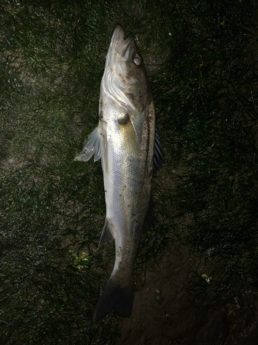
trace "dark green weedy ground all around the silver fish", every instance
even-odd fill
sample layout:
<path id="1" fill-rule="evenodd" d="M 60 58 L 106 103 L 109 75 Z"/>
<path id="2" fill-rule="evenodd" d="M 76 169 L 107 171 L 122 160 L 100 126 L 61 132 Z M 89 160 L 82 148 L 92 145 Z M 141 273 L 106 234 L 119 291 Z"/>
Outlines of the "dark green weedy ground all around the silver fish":
<path id="1" fill-rule="evenodd" d="M 257 19 L 255 1 L 1 1 L 1 344 L 257 344 Z M 131 316 L 94 322 L 115 246 L 100 160 L 75 157 L 118 23 L 166 163 Z"/>

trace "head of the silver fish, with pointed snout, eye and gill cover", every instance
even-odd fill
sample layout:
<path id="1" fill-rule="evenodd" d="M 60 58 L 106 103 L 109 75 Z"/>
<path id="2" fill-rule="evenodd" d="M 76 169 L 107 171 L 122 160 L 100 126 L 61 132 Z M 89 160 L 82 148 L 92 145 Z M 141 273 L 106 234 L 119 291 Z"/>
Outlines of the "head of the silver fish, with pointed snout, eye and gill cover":
<path id="1" fill-rule="evenodd" d="M 151 88 L 142 56 L 132 34 L 117 25 L 106 57 L 103 88 L 135 116 L 151 103 Z"/>

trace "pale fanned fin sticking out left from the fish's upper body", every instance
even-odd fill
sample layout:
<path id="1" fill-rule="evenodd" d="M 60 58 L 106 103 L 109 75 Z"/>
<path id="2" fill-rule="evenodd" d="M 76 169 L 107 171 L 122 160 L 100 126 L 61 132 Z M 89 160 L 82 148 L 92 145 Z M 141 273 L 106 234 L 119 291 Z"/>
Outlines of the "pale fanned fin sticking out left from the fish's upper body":
<path id="1" fill-rule="evenodd" d="M 94 155 L 94 161 L 98 161 L 102 156 L 102 143 L 100 140 L 100 128 L 96 127 L 83 146 L 83 150 L 75 157 L 76 161 L 88 161 Z"/>

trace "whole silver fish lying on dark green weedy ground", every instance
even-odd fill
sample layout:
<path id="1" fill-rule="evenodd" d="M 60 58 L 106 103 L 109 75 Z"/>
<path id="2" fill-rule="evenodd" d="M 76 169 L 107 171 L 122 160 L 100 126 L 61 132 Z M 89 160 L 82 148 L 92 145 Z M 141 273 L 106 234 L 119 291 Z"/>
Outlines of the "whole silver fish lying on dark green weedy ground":
<path id="1" fill-rule="evenodd" d="M 87 137 L 78 161 L 101 159 L 106 217 L 100 244 L 115 241 L 114 269 L 101 293 L 94 322 L 114 310 L 130 317 L 133 266 L 140 236 L 155 219 L 151 197 L 153 173 L 164 163 L 155 130 L 153 94 L 133 34 L 114 29 L 100 84 L 98 126 Z"/>

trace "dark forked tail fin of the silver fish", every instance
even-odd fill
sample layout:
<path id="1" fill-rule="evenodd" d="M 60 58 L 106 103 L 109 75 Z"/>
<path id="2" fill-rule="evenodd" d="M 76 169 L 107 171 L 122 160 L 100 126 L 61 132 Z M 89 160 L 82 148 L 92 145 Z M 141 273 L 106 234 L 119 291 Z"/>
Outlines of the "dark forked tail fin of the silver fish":
<path id="1" fill-rule="evenodd" d="M 127 278 L 127 282 L 125 282 L 124 279 L 118 277 L 118 271 L 113 270 L 103 293 L 100 295 L 100 299 L 98 299 L 94 311 L 94 322 L 103 319 L 103 317 L 111 313 L 112 309 L 122 317 L 130 317 L 132 308 L 133 273 L 129 279 Z"/>

